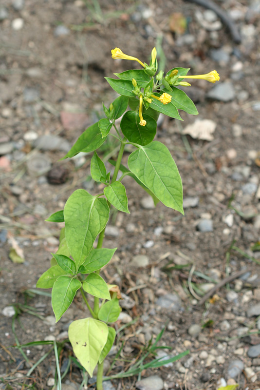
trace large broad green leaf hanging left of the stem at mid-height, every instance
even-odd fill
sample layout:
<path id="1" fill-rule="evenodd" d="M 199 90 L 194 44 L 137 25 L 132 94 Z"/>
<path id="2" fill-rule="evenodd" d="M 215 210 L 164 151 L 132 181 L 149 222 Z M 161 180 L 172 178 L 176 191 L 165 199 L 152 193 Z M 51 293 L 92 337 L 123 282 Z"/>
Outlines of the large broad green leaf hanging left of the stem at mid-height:
<path id="1" fill-rule="evenodd" d="M 67 200 L 64 207 L 65 235 L 76 266 L 84 263 L 97 235 L 109 219 L 107 200 L 79 189 Z"/>

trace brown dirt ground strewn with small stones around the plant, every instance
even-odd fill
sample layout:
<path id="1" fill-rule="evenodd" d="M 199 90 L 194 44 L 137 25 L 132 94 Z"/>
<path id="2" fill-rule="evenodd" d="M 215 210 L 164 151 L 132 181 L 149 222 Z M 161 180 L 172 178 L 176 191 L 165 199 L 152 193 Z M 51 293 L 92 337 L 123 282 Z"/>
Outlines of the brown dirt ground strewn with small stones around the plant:
<path id="1" fill-rule="evenodd" d="M 181 113 L 183 122 L 160 117 L 156 137 L 167 145 L 182 176 L 185 216 L 162 204 L 152 208 L 143 190 L 130 178 L 124 181 L 130 215 L 111 215 L 104 246 L 118 250 L 103 276 L 131 298 L 131 308 L 123 309 L 128 316 L 120 317 L 117 329 L 137 320 L 117 338 L 116 348 L 125 344 L 111 373 L 126 370 L 167 324 L 160 341 L 171 347 L 167 354 L 190 353 L 169 367 L 142 372 L 142 378 L 158 375 L 166 390 L 215 390 L 226 383 L 238 383 L 239 390 L 260 388 L 260 250 L 252 250 L 260 240 L 260 2 L 215 3 L 233 18 L 241 43 L 214 14 L 188 1 L 100 0 L 98 11 L 95 1 L 1 0 L 0 389 L 50 389 L 53 351 L 26 376 L 50 346 L 24 348 L 28 361 L 11 346 L 61 342 L 70 321 L 87 315 L 78 296 L 55 324 L 50 297 L 28 291 L 36 289 L 58 245 L 60 225 L 44 219 L 60 210 L 74 189 L 98 191 L 89 179 L 91 155 L 57 161 L 84 128 L 103 116 L 102 101 L 109 106 L 116 98 L 104 77 L 139 66 L 114 61 L 111 49 L 148 62 L 155 45 L 159 55 L 160 47 L 165 54 L 166 70 L 182 66 L 201 74 L 216 69 L 228 91 L 210 98 L 217 84 L 204 80 L 193 80 L 186 90 L 198 118 L 216 125 L 209 141 L 182 134 L 196 117 Z M 182 18 L 183 31 L 177 29 Z M 42 136 L 61 137 L 56 150 L 52 141 L 37 147 Z M 113 156 L 116 148 L 106 143 L 99 154 Z M 38 153 L 56 167 L 55 179 L 32 174 Z M 23 252 L 24 262 L 11 260 L 12 248 Z M 147 258 L 136 260 L 138 255 Z M 241 270 L 245 275 L 200 304 L 205 291 Z M 18 316 L 12 316 L 12 308 L 8 316 L 10 305 Z M 61 367 L 71 355 L 65 343 Z M 239 367 L 236 374 L 232 364 Z M 111 389 L 134 389 L 136 380 L 113 380 Z M 79 389 L 81 382 L 73 363 L 64 389 Z"/>

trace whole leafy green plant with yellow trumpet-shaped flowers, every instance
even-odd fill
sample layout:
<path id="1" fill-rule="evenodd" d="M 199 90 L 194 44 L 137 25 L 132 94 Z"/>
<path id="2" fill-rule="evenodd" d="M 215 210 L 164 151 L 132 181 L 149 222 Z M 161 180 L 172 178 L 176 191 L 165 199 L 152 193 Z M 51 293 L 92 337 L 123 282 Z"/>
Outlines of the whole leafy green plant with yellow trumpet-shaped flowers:
<path id="1" fill-rule="evenodd" d="M 91 316 L 70 324 L 69 339 L 74 354 L 90 376 L 98 365 L 97 390 L 102 390 L 103 362 L 115 339 L 115 329 L 108 324 L 114 323 L 121 312 L 119 288 L 107 284 L 99 274 L 117 249 L 102 248 L 110 208 L 113 206 L 121 212 L 129 213 L 122 181 L 125 176 L 131 176 L 152 196 L 155 204 L 161 201 L 184 214 L 182 180 L 177 166 L 167 147 L 153 141 L 156 121 L 159 113 L 180 120 L 182 118 L 178 110 L 198 114 L 192 100 L 177 88 L 179 85 L 190 85 L 184 79 L 202 78 L 212 83 L 219 80 L 215 70 L 205 75 L 187 76 L 189 69 L 177 67 L 169 70 L 165 76 L 163 71 L 156 74 L 158 64 L 155 48 L 151 52 L 149 65 L 125 55 L 119 48 L 111 50 L 111 53 L 113 59 L 138 61 L 143 69 L 115 73 L 116 79 L 106 78 L 120 96 L 109 108 L 103 104 L 106 118 L 87 128 L 63 157 L 73 157 L 79 152 L 94 152 L 91 176 L 96 182 L 104 184 L 104 191 L 91 195 L 78 189 L 69 197 L 64 210 L 47 219 L 51 222 L 65 222 L 65 228 L 61 229 L 59 248 L 53 254 L 51 268 L 37 282 L 39 288 L 52 288 L 52 307 L 56 321 L 69 308 L 76 292 L 81 292 Z M 129 111 L 128 106 L 131 108 Z M 122 119 L 118 129 L 115 121 L 120 117 Z M 110 133 L 112 126 L 115 134 Z M 115 137 L 121 145 L 116 161 L 110 160 L 114 166 L 112 178 L 96 153 L 109 136 Z M 128 157 L 128 168 L 121 164 L 126 144 L 136 148 Z M 93 248 L 97 236 L 97 245 Z M 88 295 L 94 296 L 93 307 Z"/>

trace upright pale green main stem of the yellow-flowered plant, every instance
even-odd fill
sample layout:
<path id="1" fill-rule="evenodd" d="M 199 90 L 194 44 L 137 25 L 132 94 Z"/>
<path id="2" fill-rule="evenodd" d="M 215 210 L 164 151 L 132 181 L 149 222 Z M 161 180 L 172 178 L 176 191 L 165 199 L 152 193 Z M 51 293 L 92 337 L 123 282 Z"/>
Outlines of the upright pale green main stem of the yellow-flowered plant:
<path id="1" fill-rule="evenodd" d="M 116 178 L 117 178 L 117 175 L 118 175 L 118 172 L 119 172 L 119 168 L 120 168 L 120 164 L 121 164 L 121 161 L 122 161 L 122 157 L 123 157 L 123 154 L 124 154 L 124 148 L 125 148 L 126 140 L 127 140 L 127 138 L 124 137 L 124 139 L 121 142 L 121 146 L 120 146 L 120 149 L 119 149 L 119 152 L 118 152 L 118 156 L 117 156 L 117 160 L 116 160 L 116 164 L 115 164 L 115 168 L 114 168 L 113 177 L 111 179 L 111 184 L 116 181 Z M 108 204 L 109 204 L 109 207 L 111 207 L 111 204 L 109 202 L 108 202 Z M 97 249 L 102 248 L 103 240 L 104 240 L 104 236 L 105 236 L 105 230 L 106 230 L 106 227 L 99 234 L 98 242 L 97 242 L 97 246 L 96 246 Z M 99 271 L 96 271 L 96 273 L 99 273 Z M 93 310 L 93 312 L 94 312 L 94 315 L 96 317 L 97 317 L 98 311 L 99 311 L 99 298 L 97 298 L 95 296 L 94 297 L 94 310 Z M 103 390 L 103 385 L 102 385 L 103 370 L 104 370 L 103 364 L 104 364 L 104 361 L 102 363 L 98 363 L 97 364 L 96 390 Z"/>

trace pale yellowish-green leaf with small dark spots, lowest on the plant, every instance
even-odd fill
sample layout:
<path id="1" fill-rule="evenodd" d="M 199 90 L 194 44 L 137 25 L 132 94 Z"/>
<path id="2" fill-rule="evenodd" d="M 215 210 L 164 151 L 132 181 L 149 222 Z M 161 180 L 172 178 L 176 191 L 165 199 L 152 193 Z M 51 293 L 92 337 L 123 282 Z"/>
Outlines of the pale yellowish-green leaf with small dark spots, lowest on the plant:
<path id="1" fill-rule="evenodd" d="M 108 332 L 104 322 L 91 317 L 73 321 L 69 326 L 69 339 L 74 354 L 91 377 L 106 345 Z"/>

